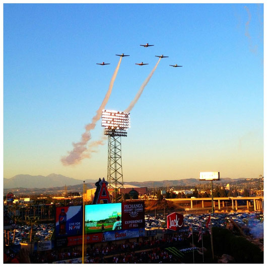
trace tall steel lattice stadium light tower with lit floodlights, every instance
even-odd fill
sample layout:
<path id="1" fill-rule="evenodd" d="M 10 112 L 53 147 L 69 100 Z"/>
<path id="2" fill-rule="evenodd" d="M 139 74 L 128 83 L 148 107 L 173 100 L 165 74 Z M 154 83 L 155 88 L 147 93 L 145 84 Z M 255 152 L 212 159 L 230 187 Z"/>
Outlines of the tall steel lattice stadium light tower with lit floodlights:
<path id="1" fill-rule="evenodd" d="M 121 137 L 127 136 L 130 127 L 130 113 L 115 110 L 102 110 L 102 126 L 105 127 L 104 135 L 108 136 L 108 167 L 107 181 L 112 202 L 117 203 L 123 199 L 123 176 L 121 165 Z M 122 197 L 118 194 L 122 189 Z"/>

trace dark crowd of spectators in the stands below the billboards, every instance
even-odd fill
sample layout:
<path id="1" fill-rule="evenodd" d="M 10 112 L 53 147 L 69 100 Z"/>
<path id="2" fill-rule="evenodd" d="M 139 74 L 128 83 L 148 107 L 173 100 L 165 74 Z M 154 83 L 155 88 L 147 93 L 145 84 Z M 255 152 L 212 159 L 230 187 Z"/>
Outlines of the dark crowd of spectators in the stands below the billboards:
<path id="1" fill-rule="evenodd" d="M 86 263 L 170 263 L 176 262 L 175 257 L 164 248 L 179 244 L 182 248 L 188 242 L 188 233 L 180 233 L 165 238 L 151 238 L 139 242 L 123 243 L 110 241 L 107 244 L 87 244 L 85 252 Z M 188 244 L 187 244 L 188 245 Z M 11 262 L 15 254 L 8 251 L 7 262 Z M 77 247 L 35 251 L 30 255 L 31 263 L 52 263 L 54 261 L 69 260 L 82 257 L 82 251 Z"/>

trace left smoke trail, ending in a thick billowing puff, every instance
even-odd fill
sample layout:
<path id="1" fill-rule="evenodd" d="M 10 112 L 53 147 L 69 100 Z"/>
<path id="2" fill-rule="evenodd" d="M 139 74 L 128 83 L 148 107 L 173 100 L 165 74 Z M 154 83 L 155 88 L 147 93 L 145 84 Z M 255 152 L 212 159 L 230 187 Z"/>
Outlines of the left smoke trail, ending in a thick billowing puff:
<path id="1" fill-rule="evenodd" d="M 122 57 L 120 57 L 119 62 L 117 64 L 117 67 L 115 69 L 115 72 L 114 72 L 114 74 L 113 74 L 113 76 L 111 78 L 111 81 L 110 81 L 110 84 L 109 84 L 109 88 L 108 88 L 108 91 L 107 91 L 107 93 L 105 95 L 105 98 L 102 101 L 102 103 L 101 103 L 100 107 L 98 108 L 98 110 L 96 111 L 96 115 L 92 118 L 92 122 L 91 123 L 85 125 L 86 131 L 83 133 L 81 141 L 78 142 L 78 143 L 73 143 L 74 149 L 71 152 L 68 152 L 69 153 L 68 156 L 65 156 L 65 157 L 61 158 L 61 162 L 62 162 L 63 165 L 78 164 L 84 158 L 89 158 L 90 157 L 90 154 L 84 154 L 84 152 L 87 151 L 86 145 L 87 145 L 88 141 L 91 139 L 90 131 L 95 128 L 96 122 L 101 118 L 102 109 L 105 108 L 105 105 L 108 102 L 108 99 L 110 97 L 110 94 L 111 94 L 111 91 L 112 91 L 112 88 L 113 88 L 114 81 L 116 79 L 116 76 L 117 76 L 117 73 L 118 73 L 118 70 L 119 70 L 121 58 Z M 97 142 L 101 143 L 101 141 L 97 141 Z"/>

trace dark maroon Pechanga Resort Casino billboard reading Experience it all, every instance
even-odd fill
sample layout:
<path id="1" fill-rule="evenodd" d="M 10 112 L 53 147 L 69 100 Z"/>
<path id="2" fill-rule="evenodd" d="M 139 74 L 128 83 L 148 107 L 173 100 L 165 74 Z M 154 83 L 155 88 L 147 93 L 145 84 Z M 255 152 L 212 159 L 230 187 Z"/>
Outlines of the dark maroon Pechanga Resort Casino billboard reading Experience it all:
<path id="1" fill-rule="evenodd" d="M 145 227 L 145 203 L 142 201 L 121 204 L 122 229 Z"/>

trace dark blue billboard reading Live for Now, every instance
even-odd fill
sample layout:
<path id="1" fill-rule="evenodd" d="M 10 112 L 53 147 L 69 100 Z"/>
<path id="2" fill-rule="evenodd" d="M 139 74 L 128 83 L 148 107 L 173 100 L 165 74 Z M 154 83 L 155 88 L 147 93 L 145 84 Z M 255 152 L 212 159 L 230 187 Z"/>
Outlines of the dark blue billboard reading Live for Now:
<path id="1" fill-rule="evenodd" d="M 56 237 L 74 236 L 83 233 L 83 207 L 57 207 L 55 217 Z"/>

